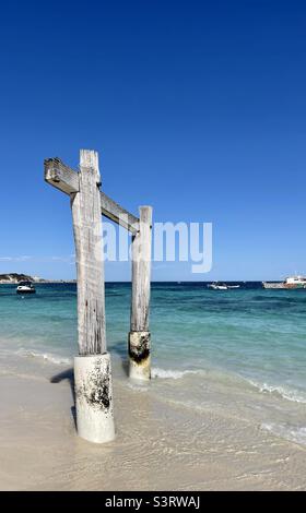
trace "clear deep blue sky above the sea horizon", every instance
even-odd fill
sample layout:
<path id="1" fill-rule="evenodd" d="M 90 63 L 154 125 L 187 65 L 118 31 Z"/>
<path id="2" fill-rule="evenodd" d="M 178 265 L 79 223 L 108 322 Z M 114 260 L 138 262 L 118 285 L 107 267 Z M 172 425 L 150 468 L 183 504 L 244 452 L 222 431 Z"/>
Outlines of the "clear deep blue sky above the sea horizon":
<path id="1" fill-rule="evenodd" d="M 210 274 L 154 279 L 306 272 L 306 2 L 2 2 L 0 48 L 0 272 L 74 277 L 43 160 L 76 166 L 80 147 L 131 212 L 213 223 Z"/>

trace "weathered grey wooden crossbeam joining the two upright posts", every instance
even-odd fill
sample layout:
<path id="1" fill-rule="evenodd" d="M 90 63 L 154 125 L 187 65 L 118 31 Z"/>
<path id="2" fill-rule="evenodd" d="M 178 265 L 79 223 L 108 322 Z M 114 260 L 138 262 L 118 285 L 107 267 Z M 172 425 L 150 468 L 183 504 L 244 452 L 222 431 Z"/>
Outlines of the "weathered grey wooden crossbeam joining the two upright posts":
<path id="1" fill-rule="evenodd" d="M 66 194 L 80 191 L 79 172 L 63 164 L 60 158 L 45 159 L 45 180 Z M 128 229 L 132 235 L 139 231 L 139 218 L 118 205 L 104 192 L 101 194 L 101 213 L 108 219 Z"/>

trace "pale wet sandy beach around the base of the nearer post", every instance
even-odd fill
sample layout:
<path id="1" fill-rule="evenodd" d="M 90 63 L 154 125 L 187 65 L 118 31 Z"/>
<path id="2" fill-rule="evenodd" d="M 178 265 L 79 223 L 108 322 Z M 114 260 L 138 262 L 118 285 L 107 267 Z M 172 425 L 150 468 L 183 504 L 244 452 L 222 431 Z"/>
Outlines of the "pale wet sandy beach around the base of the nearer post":
<path id="1" fill-rule="evenodd" d="M 116 371 L 117 437 L 96 445 L 75 433 L 71 368 L 35 359 L 5 368 L 1 490 L 306 489 L 305 448 L 235 416 L 158 401 L 154 380 L 141 389 Z"/>

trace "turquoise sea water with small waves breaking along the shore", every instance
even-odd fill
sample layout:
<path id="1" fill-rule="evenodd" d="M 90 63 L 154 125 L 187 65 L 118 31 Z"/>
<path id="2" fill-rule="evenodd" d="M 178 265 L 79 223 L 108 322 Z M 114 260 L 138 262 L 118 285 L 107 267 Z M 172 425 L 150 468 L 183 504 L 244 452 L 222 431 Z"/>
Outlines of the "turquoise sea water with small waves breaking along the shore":
<path id="1" fill-rule="evenodd" d="M 0 351 L 67 365 L 78 351 L 75 285 L 37 285 L 22 298 L 0 286 Z M 107 342 L 127 356 L 130 285 L 106 285 Z M 151 331 L 156 393 L 195 408 L 227 408 L 306 443 L 306 290 L 210 290 L 153 284 Z M 3 363 L 4 365 L 4 363 Z"/>

